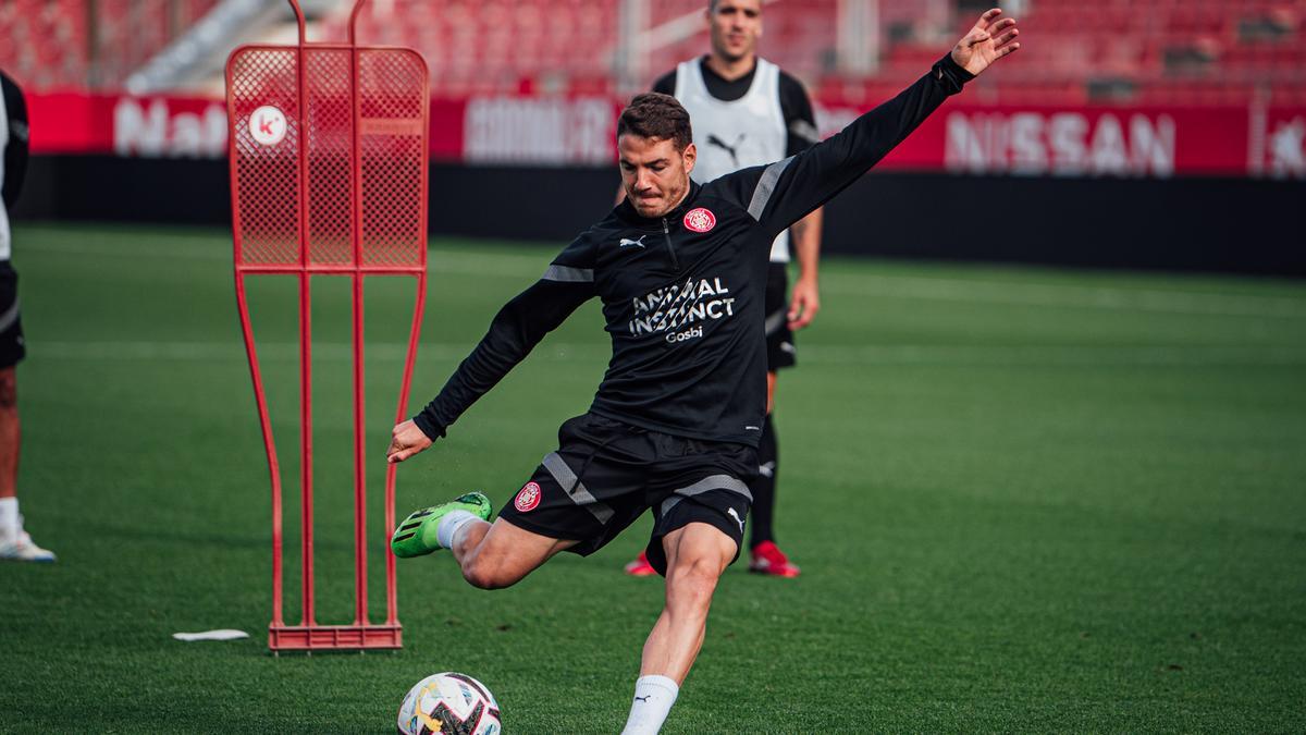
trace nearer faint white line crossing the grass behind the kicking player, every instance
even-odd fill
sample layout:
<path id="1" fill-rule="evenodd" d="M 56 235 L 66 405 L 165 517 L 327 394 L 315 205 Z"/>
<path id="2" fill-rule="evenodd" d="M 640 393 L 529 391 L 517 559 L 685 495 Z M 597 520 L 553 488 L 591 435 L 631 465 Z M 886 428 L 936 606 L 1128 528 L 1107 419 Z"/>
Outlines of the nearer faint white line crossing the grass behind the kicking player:
<path id="1" fill-rule="evenodd" d="M 423 343 L 419 357 L 424 361 L 458 361 L 468 356 L 473 343 Z M 260 362 L 296 362 L 299 344 L 293 341 L 260 343 Z M 204 341 L 54 341 L 29 345 L 38 360 L 61 361 L 196 361 L 230 360 L 244 362 L 240 343 Z M 367 347 L 368 358 L 402 361 L 406 344 L 379 343 Z M 317 343 L 315 360 L 347 362 L 353 360 L 347 343 Z M 550 362 L 606 362 L 607 345 L 545 343 L 528 360 Z M 1220 365 L 1306 365 L 1306 347 L 1282 345 L 804 345 L 801 356 L 814 365 L 1012 365 L 1012 366 L 1220 366 Z"/>

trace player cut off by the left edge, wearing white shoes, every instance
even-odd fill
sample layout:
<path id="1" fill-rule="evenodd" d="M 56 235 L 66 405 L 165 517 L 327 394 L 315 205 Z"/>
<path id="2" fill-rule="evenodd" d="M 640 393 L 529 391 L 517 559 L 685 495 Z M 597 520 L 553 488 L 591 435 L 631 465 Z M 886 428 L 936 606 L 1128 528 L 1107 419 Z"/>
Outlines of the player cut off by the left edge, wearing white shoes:
<path id="1" fill-rule="evenodd" d="M 18 200 L 27 170 L 27 105 L 22 90 L 0 72 L 0 558 L 55 561 L 55 555 L 33 543 L 18 513 L 18 388 L 14 366 L 24 358 L 22 322 L 18 318 L 18 275 L 9 263 L 9 208 Z"/>

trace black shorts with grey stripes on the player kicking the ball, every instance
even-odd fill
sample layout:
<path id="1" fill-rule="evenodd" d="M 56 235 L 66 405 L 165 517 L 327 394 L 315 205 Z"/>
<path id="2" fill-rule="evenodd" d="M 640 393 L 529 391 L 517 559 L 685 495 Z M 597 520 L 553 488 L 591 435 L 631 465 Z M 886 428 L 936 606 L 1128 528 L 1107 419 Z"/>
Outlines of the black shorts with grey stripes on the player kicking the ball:
<path id="1" fill-rule="evenodd" d="M 666 574 L 662 536 L 693 522 L 735 541 L 752 505 L 748 483 L 757 450 L 746 445 L 674 437 L 594 413 L 558 430 L 558 451 L 545 456 L 499 518 L 550 539 L 577 540 L 575 553 L 603 548 L 645 510 L 653 510 L 649 564 Z"/>

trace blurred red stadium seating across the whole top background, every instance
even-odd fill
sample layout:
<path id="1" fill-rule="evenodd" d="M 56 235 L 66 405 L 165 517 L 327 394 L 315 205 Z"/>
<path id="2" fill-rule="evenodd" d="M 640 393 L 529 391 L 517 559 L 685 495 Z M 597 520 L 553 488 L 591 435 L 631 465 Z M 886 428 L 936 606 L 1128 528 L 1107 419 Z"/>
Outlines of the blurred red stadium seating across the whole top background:
<path id="1" fill-rule="evenodd" d="M 118 89 L 219 0 L 9 0 L 0 3 L 0 65 L 34 90 Z M 312 38 L 343 38 L 351 3 L 325 7 Z M 359 38 L 418 48 L 434 93 L 629 92 L 701 52 L 703 0 L 643 7 L 653 46 L 616 78 L 619 0 L 375 0 Z M 841 72 L 837 0 L 773 0 L 767 56 L 827 102 L 866 105 L 896 93 L 973 16 L 976 0 L 878 7 L 870 75 Z M 1025 46 L 976 98 L 1002 105 L 1306 103 L 1306 7 L 1298 0 L 1024 0 Z M 665 33 L 658 33 L 665 31 Z M 30 51 L 25 51 L 30 50 Z"/>

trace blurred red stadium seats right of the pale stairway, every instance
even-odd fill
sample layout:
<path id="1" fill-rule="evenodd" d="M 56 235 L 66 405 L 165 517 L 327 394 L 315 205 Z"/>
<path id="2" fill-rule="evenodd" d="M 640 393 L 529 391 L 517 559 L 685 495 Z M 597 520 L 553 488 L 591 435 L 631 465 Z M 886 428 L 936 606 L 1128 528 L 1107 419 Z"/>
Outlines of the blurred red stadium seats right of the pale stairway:
<path id="1" fill-rule="evenodd" d="M 838 73 L 835 0 L 778 0 L 767 9 L 767 55 L 823 99 L 865 103 L 895 93 L 938 58 L 973 3 L 880 3 L 878 71 Z M 426 54 L 445 94 L 599 90 L 611 86 L 618 3 L 393 0 L 372 7 L 364 34 Z M 377 9 L 380 8 L 380 9 Z M 649 4 L 648 27 L 703 12 L 701 0 Z M 1256 94 L 1306 98 L 1303 9 L 1292 0 L 1032 0 L 1021 27 L 1034 34 L 1000 81 L 994 103 L 1235 105 Z M 396 22 L 404 18 L 404 22 Z M 343 13 L 326 24 L 342 27 Z M 964 30 L 964 29 L 963 29 Z M 700 52 L 704 31 L 650 48 L 645 73 Z"/>

